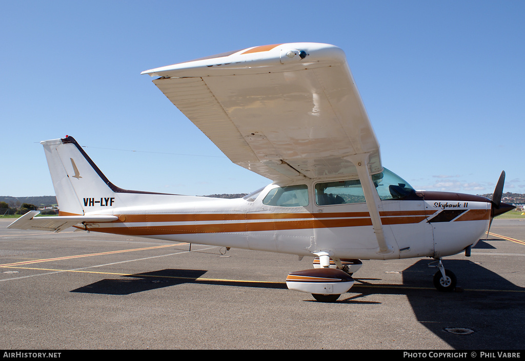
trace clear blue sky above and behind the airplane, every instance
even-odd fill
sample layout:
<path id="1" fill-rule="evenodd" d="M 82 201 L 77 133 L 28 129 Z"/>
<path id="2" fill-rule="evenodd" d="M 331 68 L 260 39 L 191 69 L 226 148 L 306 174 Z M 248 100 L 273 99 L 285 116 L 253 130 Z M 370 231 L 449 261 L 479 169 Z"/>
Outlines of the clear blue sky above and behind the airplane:
<path id="1" fill-rule="evenodd" d="M 525 2 L 0 1 L 0 195 L 54 195 L 41 140 L 72 135 L 117 186 L 270 183 L 232 164 L 140 72 L 251 46 L 341 47 L 416 189 L 525 193 Z"/>

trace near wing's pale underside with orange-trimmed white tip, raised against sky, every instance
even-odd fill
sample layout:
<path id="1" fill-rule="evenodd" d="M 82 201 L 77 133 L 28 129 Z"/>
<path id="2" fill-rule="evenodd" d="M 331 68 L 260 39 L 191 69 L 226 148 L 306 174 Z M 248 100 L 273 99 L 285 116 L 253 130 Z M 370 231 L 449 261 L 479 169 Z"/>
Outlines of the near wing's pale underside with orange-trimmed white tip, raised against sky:
<path id="1" fill-rule="evenodd" d="M 234 163 L 277 182 L 383 170 L 344 52 L 259 46 L 142 72 Z M 355 159 L 355 157 L 353 158 Z"/>

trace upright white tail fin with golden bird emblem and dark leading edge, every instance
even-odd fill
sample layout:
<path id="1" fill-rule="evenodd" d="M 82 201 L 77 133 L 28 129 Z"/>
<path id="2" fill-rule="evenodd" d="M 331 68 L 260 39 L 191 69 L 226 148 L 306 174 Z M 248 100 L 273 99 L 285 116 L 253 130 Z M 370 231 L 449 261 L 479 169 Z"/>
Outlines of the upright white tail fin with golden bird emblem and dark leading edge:
<path id="1" fill-rule="evenodd" d="M 44 146 L 61 215 L 108 209 L 116 205 L 116 192 L 125 192 L 109 182 L 73 137 L 40 143 Z"/>

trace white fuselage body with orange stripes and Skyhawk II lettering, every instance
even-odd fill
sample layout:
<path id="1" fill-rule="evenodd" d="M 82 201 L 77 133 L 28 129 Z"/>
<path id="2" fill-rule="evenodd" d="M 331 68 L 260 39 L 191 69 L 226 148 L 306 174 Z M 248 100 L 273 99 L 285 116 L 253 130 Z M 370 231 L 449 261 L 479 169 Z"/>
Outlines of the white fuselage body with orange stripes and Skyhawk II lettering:
<path id="1" fill-rule="evenodd" d="M 255 199 L 121 193 L 109 212 L 95 211 L 118 221 L 83 229 L 300 256 L 328 249 L 337 258 L 394 259 L 456 254 L 474 245 L 489 225 L 490 201 L 483 197 L 419 192 L 382 200 L 381 222 L 393 252 L 380 254 L 366 203 L 320 206 L 310 184 L 306 206 L 264 204 L 276 187 L 269 185 Z M 130 204 L 128 197 L 137 205 L 119 207 L 120 201 Z"/>

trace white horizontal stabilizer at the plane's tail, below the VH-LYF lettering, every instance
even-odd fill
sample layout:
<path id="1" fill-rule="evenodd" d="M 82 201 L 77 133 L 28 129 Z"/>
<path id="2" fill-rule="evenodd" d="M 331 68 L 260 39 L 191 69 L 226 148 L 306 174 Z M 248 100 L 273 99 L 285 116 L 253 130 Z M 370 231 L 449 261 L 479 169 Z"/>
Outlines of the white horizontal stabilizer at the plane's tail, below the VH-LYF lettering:
<path id="1" fill-rule="evenodd" d="M 35 218 L 38 214 L 40 214 L 39 210 L 31 210 L 7 226 L 7 228 L 60 232 L 81 223 L 111 222 L 119 219 L 116 216 L 50 216 Z"/>

